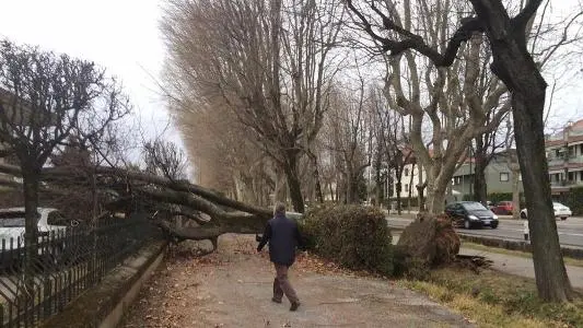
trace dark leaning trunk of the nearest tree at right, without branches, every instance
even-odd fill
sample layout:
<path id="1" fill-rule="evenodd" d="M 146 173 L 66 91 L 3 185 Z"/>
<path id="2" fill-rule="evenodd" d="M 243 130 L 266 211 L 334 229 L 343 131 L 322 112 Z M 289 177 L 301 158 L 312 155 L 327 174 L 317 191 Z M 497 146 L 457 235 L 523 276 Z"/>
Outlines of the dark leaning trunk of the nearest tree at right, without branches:
<path id="1" fill-rule="evenodd" d="M 527 186 L 524 194 L 538 295 L 545 301 L 569 301 L 573 290 L 557 234 L 545 151 L 543 114 L 547 83 L 528 52 L 527 22 L 524 17 L 511 21 L 500 1 L 470 1 L 490 40 L 491 69 L 512 97 L 516 150 L 523 183 Z"/>

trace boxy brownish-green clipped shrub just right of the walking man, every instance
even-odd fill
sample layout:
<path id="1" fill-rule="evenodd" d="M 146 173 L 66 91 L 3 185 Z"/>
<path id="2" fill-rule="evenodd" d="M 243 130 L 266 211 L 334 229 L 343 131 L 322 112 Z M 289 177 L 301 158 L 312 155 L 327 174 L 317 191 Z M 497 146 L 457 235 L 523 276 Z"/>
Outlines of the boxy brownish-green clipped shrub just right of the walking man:
<path id="1" fill-rule="evenodd" d="M 353 270 L 393 273 L 390 232 L 385 215 L 360 206 L 322 207 L 301 224 L 306 246 L 319 256 Z"/>

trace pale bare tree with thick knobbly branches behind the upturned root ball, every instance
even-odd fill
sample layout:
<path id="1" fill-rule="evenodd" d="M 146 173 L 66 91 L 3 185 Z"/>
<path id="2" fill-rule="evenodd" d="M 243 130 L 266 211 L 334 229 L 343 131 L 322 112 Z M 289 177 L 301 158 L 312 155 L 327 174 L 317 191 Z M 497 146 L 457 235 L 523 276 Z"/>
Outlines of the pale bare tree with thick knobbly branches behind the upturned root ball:
<path id="1" fill-rule="evenodd" d="M 392 1 L 386 3 L 387 9 L 396 8 Z M 411 11 L 409 1 L 405 1 L 403 11 L 392 14 L 404 28 L 425 31 L 423 36 L 432 46 L 444 48 L 452 33 L 448 21 L 455 12 L 453 4 L 444 5 L 419 5 Z M 363 15 L 362 19 L 369 23 Z M 486 96 L 482 99 L 478 96 L 475 85 L 487 69 L 480 65 L 482 47 L 482 38 L 474 37 L 460 50 L 464 60 L 456 60 L 448 68 L 436 67 L 412 51 L 386 58 L 385 94 L 394 110 L 410 117 L 409 141 L 416 160 L 427 172 L 428 210 L 433 213 L 443 211 L 446 188 L 467 144 L 475 137 L 495 129 L 510 109 L 510 106 L 498 105 L 505 92 L 498 79 L 487 81 Z M 488 115 L 492 119 L 486 124 Z M 427 121 L 431 149 L 423 136 Z"/>

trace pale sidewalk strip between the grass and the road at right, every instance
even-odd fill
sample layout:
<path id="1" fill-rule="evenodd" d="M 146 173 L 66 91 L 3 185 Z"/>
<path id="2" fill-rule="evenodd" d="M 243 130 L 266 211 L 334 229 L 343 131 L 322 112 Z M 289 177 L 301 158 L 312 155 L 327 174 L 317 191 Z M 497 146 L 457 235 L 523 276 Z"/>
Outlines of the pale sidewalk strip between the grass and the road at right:
<path id="1" fill-rule="evenodd" d="M 492 269 L 494 270 L 532 279 L 535 278 L 535 268 L 532 258 L 483 251 L 464 247 L 459 249 L 459 254 L 483 256 L 493 261 Z M 583 268 L 573 266 L 565 267 L 567 274 L 571 280 L 571 285 L 573 288 L 583 289 Z"/>

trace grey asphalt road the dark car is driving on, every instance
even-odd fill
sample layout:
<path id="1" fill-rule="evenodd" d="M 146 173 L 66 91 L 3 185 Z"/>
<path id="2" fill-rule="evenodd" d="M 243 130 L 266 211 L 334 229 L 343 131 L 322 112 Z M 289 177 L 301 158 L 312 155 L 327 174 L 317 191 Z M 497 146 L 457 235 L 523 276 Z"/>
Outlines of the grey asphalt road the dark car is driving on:
<path id="1" fill-rule="evenodd" d="M 387 222 L 392 227 L 403 229 L 407 226 L 412 219 L 388 216 Z M 524 220 L 500 220 L 498 229 L 476 229 L 465 230 L 456 229 L 459 234 L 494 237 L 501 239 L 524 239 L 523 231 Z M 559 241 L 562 246 L 583 247 L 583 218 L 569 218 L 565 221 L 557 220 L 559 230 Z"/>

